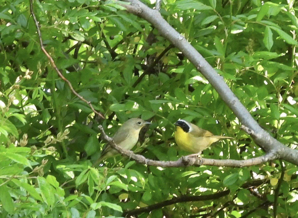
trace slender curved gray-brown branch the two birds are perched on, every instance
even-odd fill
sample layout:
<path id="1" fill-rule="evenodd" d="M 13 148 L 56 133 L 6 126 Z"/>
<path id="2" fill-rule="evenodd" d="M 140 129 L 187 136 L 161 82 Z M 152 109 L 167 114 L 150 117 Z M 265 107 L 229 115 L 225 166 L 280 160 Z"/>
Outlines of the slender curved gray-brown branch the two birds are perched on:
<path id="1" fill-rule="evenodd" d="M 226 167 L 246 167 L 246 166 L 253 166 L 268 162 L 270 160 L 276 159 L 275 153 L 267 153 L 260 157 L 254 157 L 248 160 L 233 160 L 233 159 L 208 159 L 208 158 L 197 158 L 197 157 L 190 157 L 184 156 L 180 157 L 176 161 L 160 161 L 160 160 L 151 160 L 145 158 L 143 155 L 135 154 L 133 151 L 130 150 L 123 150 L 119 146 L 117 146 L 113 139 L 105 134 L 103 127 L 101 125 L 98 126 L 102 138 L 105 139 L 108 144 L 117 150 L 122 156 L 127 156 L 130 159 L 135 160 L 138 163 L 146 164 L 150 166 L 159 166 L 159 167 L 187 167 L 187 166 L 201 166 L 201 165 L 209 165 L 209 166 L 226 166 Z"/>

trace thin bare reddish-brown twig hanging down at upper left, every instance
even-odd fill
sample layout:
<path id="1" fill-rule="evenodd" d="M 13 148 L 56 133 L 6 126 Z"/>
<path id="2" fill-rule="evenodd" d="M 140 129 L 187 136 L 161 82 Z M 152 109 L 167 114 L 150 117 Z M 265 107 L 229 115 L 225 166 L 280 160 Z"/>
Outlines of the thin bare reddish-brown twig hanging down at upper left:
<path id="1" fill-rule="evenodd" d="M 37 19 L 36 19 L 36 17 L 35 17 L 34 12 L 33 12 L 33 6 L 32 6 L 32 5 L 33 5 L 32 0 L 30 0 L 30 13 L 31 13 L 31 15 L 32 15 L 32 17 L 33 17 L 33 20 L 34 20 L 34 23 L 35 23 L 35 26 L 36 26 L 36 29 L 37 29 L 38 38 L 39 38 L 39 44 L 40 44 L 41 50 L 44 52 L 44 54 L 46 55 L 46 57 L 49 59 L 49 61 L 50 61 L 51 65 L 52 65 L 52 67 L 55 69 L 55 71 L 57 72 L 57 74 L 59 75 L 59 77 L 60 77 L 62 80 L 64 80 L 64 81 L 68 84 L 68 86 L 69 86 L 70 90 L 72 91 L 72 93 L 75 94 L 75 95 L 76 95 L 79 99 L 81 99 L 83 102 L 86 102 L 86 103 L 89 105 L 89 107 L 91 108 L 91 110 L 92 110 L 95 114 L 97 114 L 97 115 L 100 116 L 101 118 L 105 119 L 105 117 L 104 117 L 101 113 L 97 112 L 97 111 L 93 108 L 93 106 L 91 105 L 91 102 L 89 102 L 89 101 L 87 101 L 86 99 L 84 99 L 82 96 L 80 96 L 80 95 L 75 91 L 75 89 L 72 87 L 72 84 L 69 82 L 69 80 L 67 80 L 67 79 L 62 75 L 62 73 L 60 72 L 60 70 L 57 68 L 57 66 L 56 66 L 56 64 L 55 64 L 55 62 L 54 62 L 54 60 L 52 59 L 52 57 L 49 55 L 49 53 L 48 53 L 48 52 L 46 51 L 46 49 L 44 48 L 44 45 L 43 45 L 43 42 L 42 42 L 42 39 L 41 39 L 41 32 L 40 32 L 40 29 L 39 29 L 39 24 L 38 24 L 38 21 L 37 21 Z"/>

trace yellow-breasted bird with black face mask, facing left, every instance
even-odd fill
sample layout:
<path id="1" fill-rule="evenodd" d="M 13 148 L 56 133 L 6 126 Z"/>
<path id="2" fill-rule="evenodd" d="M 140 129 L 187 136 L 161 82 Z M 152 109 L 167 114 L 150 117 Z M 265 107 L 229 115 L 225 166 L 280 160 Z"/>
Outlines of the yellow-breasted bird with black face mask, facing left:
<path id="1" fill-rule="evenodd" d="M 231 138 L 222 135 L 213 135 L 211 132 L 197 127 L 195 124 L 185 120 L 178 120 L 176 123 L 175 141 L 184 151 L 201 154 L 212 143 L 224 138 Z"/>

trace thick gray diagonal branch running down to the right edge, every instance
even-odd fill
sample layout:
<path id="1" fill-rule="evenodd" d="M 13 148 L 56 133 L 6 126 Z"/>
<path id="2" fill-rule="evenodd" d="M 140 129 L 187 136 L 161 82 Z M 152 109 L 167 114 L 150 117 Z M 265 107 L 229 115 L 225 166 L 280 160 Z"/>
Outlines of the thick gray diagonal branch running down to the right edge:
<path id="1" fill-rule="evenodd" d="M 273 138 L 268 132 L 262 129 L 257 121 L 250 115 L 249 111 L 241 104 L 233 94 L 224 79 L 212 68 L 212 66 L 198 53 L 187 40 L 181 36 L 166 20 L 162 18 L 158 10 L 153 10 L 139 0 L 123 0 L 130 2 L 130 5 L 123 5 L 128 12 L 144 18 L 151 23 L 159 33 L 181 50 L 185 57 L 205 76 L 212 84 L 221 98 L 235 113 L 240 122 L 254 132 L 251 134 L 254 142 L 266 152 L 276 153 L 276 158 L 282 158 L 288 162 L 298 165 L 298 150 L 293 150 Z"/>

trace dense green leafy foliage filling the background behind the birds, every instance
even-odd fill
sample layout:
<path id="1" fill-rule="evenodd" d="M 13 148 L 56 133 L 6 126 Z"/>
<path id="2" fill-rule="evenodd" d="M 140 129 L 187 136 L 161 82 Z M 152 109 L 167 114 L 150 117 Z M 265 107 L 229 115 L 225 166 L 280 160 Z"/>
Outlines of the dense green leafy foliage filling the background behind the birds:
<path id="1" fill-rule="evenodd" d="M 105 120 L 49 64 L 29 1 L 0 2 L 1 217 L 121 217 L 137 207 L 205 195 L 209 200 L 193 198 L 138 217 L 298 217 L 297 166 L 283 161 L 161 168 L 116 157 L 92 167 L 104 145 L 98 124 L 112 135 L 131 117 L 153 122 L 145 135 L 150 140 L 143 143 L 142 132 L 134 149 L 150 159 L 188 154 L 174 143 L 177 119 L 235 138 L 204 157 L 248 159 L 264 151 L 193 64 L 119 2 L 33 3 L 46 50 Z M 164 0 L 160 12 L 258 123 L 297 149 L 297 3 Z"/>

